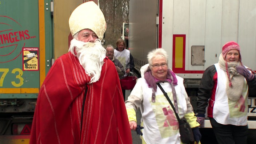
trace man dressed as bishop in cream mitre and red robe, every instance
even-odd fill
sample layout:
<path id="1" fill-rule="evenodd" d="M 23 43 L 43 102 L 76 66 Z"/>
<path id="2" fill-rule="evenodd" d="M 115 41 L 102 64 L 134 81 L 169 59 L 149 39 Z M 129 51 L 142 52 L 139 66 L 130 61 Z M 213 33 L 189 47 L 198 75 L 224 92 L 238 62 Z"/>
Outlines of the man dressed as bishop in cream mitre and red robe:
<path id="1" fill-rule="evenodd" d="M 93 1 L 83 3 L 71 13 L 69 27 L 69 52 L 40 88 L 29 143 L 132 144 L 119 77 L 101 45 L 103 13 Z"/>

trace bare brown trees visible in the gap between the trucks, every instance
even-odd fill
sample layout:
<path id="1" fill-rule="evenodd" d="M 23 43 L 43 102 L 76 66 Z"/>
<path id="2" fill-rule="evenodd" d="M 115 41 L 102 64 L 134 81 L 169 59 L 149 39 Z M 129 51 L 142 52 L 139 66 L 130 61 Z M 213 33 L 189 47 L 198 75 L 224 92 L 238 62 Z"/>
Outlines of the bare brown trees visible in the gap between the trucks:
<path id="1" fill-rule="evenodd" d="M 116 46 L 116 40 L 121 37 L 123 22 L 129 23 L 129 0 L 99 0 L 107 23 L 105 45 Z"/>

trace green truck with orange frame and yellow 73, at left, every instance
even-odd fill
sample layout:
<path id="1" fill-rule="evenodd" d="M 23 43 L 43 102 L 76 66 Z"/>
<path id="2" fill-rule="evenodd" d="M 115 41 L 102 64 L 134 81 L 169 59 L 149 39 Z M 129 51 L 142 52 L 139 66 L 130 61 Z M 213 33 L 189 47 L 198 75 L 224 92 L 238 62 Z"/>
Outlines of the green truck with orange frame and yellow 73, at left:
<path id="1" fill-rule="evenodd" d="M 68 18 L 84 2 L 0 0 L 0 144 L 29 143 L 39 89 L 68 52 Z"/>

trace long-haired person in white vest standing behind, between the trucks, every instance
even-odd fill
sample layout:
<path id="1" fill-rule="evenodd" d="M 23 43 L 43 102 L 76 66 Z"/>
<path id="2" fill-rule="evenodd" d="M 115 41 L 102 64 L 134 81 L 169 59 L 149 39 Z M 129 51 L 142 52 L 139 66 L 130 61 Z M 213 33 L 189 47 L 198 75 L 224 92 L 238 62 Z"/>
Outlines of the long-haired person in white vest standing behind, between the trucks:
<path id="1" fill-rule="evenodd" d="M 133 62 L 133 57 L 130 51 L 128 49 L 125 49 L 125 47 L 126 47 L 125 41 L 123 39 L 118 39 L 116 41 L 116 49 L 114 50 L 114 56 L 124 66 L 124 69 L 125 69 L 124 76 L 128 76 L 128 74 L 134 68 L 134 62 Z M 122 92 L 125 100 L 125 89 L 122 89 Z"/>

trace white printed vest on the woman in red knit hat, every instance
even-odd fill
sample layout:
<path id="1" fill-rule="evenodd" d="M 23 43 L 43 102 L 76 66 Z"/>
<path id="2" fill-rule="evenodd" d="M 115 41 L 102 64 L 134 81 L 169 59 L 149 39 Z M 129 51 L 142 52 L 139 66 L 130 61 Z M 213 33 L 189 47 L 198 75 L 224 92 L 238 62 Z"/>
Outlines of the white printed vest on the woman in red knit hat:
<path id="1" fill-rule="evenodd" d="M 220 124 L 247 125 L 248 85 L 244 79 L 244 90 L 237 101 L 228 99 L 226 93 L 227 73 L 219 64 L 214 64 L 217 72 L 217 87 L 213 106 L 213 118 Z M 244 111 L 242 111 L 244 109 Z"/>

